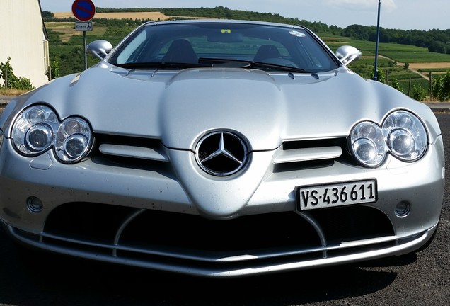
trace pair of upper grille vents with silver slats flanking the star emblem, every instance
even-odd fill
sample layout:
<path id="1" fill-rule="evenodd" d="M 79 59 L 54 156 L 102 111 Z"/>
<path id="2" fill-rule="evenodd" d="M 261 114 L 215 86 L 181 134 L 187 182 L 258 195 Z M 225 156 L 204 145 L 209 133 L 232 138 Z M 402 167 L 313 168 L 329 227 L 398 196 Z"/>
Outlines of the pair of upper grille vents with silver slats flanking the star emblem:
<path id="1" fill-rule="evenodd" d="M 91 157 L 101 164 L 164 171 L 170 169 L 166 149 L 157 139 L 97 134 Z M 336 161 L 355 165 L 346 137 L 287 141 L 276 150 L 272 171 L 322 168 L 333 166 Z"/>

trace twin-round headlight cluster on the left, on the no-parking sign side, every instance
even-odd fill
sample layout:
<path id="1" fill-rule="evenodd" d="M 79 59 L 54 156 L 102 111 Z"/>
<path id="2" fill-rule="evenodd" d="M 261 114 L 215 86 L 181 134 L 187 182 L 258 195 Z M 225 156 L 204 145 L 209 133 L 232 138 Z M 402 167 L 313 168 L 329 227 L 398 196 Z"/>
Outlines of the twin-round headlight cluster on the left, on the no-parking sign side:
<path id="1" fill-rule="evenodd" d="M 35 156 L 54 148 L 64 163 L 77 162 L 88 154 L 92 132 L 86 120 L 70 117 L 62 122 L 52 108 L 35 105 L 16 118 L 12 130 L 16 149 L 25 156 Z"/>

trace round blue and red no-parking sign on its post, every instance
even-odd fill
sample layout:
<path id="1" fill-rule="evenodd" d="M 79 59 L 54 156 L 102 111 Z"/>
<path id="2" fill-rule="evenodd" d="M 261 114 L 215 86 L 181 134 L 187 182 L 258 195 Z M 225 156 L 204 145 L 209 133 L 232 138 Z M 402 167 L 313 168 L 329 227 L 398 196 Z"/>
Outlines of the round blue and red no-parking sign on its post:
<path id="1" fill-rule="evenodd" d="M 72 4 L 72 13 L 79 21 L 76 23 L 76 30 L 83 31 L 83 48 L 84 48 L 84 69 L 88 69 L 88 57 L 86 50 L 86 31 L 93 30 L 92 22 L 90 21 L 96 14 L 96 6 L 91 0 L 75 0 Z"/>

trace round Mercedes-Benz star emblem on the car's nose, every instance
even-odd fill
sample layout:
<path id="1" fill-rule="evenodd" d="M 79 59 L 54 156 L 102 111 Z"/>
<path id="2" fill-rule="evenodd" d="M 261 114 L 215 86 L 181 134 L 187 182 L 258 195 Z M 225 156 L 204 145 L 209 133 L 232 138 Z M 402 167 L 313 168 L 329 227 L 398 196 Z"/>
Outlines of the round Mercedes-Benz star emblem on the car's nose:
<path id="1" fill-rule="evenodd" d="M 212 132 L 198 142 L 195 159 L 199 166 L 214 176 L 229 176 L 243 169 L 247 161 L 246 143 L 237 135 Z"/>

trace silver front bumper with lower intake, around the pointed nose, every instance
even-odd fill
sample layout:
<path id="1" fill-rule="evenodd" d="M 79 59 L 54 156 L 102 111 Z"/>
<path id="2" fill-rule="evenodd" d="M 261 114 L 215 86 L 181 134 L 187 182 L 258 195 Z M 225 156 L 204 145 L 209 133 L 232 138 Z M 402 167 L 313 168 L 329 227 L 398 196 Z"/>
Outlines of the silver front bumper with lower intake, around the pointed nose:
<path id="1" fill-rule="evenodd" d="M 407 166 L 389 159 L 380 169 L 335 162 L 272 172 L 239 217 L 221 220 L 228 218 L 204 218 L 183 183 L 163 168 L 126 168 L 100 159 L 63 165 L 51 153 L 21 157 L 5 141 L 0 218 L 13 237 L 38 248 L 197 276 L 376 259 L 414 251 L 432 237 L 442 209 L 443 152 L 439 137 L 420 162 Z M 188 160 L 190 153 L 171 154 Z M 296 186 L 367 178 L 378 182 L 376 203 L 296 211 Z M 40 212 L 29 209 L 30 198 L 43 203 Z M 402 202 L 410 204 L 406 216 L 396 215 Z"/>

